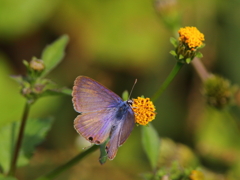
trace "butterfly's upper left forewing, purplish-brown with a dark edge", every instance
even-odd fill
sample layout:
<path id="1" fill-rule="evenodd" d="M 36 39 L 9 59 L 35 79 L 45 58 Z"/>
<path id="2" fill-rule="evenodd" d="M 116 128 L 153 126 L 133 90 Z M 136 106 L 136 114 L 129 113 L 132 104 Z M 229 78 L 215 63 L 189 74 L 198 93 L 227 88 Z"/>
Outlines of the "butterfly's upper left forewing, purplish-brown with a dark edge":
<path id="1" fill-rule="evenodd" d="M 86 76 L 76 78 L 72 96 L 74 109 L 79 113 L 101 111 L 122 102 L 114 92 Z"/>

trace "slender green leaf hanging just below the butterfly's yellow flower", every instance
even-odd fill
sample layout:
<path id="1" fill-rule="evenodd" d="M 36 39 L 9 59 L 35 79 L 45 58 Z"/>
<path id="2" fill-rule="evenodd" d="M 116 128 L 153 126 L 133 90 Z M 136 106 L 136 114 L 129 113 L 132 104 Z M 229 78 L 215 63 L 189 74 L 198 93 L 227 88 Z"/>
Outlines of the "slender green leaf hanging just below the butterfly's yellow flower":
<path id="1" fill-rule="evenodd" d="M 148 127 L 142 126 L 142 144 L 152 169 L 155 170 L 159 158 L 160 138 L 151 124 Z"/>

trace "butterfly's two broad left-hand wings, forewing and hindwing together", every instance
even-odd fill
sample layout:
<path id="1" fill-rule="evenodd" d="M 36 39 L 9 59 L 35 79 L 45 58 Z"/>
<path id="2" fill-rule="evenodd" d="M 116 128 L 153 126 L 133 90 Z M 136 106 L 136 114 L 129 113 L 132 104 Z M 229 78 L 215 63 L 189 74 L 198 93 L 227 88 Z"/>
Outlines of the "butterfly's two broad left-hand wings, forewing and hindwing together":
<path id="1" fill-rule="evenodd" d="M 86 140 L 101 144 L 110 135 L 114 117 L 122 99 L 85 76 L 76 78 L 73 87 L 73 105 L 78 115 L 74 120 L 74 128 Z"/>

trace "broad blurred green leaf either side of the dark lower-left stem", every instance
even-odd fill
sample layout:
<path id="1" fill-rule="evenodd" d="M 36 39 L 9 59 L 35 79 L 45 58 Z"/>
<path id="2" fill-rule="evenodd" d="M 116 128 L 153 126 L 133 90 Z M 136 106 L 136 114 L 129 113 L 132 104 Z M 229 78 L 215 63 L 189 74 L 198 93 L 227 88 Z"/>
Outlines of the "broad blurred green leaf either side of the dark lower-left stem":
<path id="1" fill-rule="evenodd" d="M 29 119 L 26 125 L 22 147 L 18 157 L 17 166 L 28 164 L 36 145 L 40 144 L 53 123 L 52 118 Z M 3 172 L 9 171 L 11 152 L 16 144 L 19 122 L 11 123 L 0 129 L 0 166 Z"/>

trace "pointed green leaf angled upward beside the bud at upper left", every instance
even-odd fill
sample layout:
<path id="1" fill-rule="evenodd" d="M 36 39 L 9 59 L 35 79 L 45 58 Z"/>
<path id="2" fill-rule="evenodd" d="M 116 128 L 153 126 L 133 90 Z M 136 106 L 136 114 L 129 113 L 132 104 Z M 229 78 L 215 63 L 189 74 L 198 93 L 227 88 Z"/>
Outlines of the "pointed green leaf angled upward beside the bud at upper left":
<path id="1" fill-rule="evenodd" d="M 68 40 L 68 36 L 63 35 L 43 50 L 41 59 L 44 61 L 45 70 L 42 72 L 41 77 L 46 76 L 61 62 Z"/>

